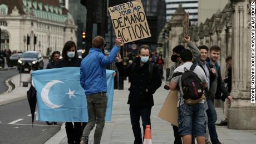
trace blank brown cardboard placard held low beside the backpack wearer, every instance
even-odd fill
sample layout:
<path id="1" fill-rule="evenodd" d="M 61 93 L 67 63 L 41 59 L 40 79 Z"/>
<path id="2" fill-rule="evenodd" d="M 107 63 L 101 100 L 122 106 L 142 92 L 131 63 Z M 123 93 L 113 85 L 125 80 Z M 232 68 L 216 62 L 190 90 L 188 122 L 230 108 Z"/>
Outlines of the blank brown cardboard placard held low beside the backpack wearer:
<path id="1" fill-rule="evenodd" d="M 171 124 L 178 126 L 178 91 L 170 91 L 165 99 L 165 102 L 158 114 L 158 117 Z"/>

